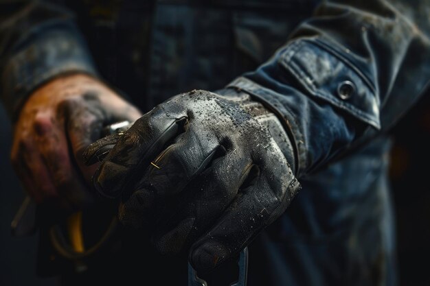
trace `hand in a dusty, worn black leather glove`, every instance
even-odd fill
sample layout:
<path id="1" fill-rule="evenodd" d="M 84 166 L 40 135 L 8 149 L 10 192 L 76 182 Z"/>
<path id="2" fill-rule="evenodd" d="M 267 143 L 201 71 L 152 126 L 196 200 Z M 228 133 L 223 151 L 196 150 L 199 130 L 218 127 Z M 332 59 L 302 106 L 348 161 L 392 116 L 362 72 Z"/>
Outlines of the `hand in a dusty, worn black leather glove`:
<path id="1" fill-rule="evenodd" d="M 222 92 L 192 91 L 155 107 L 93 177 L 100 193 L 122 196 L 125 225 L 149 227 L 161 253 L 190 250 L 203 274 L 235 257 L 299 189 L 277 117 L 245 93 Z"/>

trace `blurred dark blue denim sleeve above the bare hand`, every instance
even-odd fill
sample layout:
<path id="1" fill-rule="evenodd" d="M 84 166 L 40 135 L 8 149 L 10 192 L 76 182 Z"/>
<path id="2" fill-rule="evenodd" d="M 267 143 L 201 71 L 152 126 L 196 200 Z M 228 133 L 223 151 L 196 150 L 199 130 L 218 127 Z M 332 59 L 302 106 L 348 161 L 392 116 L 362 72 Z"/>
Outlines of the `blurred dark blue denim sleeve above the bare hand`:
<path id="1" fill-rule="evenodd" d="M 12 121 L 34 88 L 76 71 L 97 76 L 69 11 L 42 1 L 0 2 L 0 96 Z"/>

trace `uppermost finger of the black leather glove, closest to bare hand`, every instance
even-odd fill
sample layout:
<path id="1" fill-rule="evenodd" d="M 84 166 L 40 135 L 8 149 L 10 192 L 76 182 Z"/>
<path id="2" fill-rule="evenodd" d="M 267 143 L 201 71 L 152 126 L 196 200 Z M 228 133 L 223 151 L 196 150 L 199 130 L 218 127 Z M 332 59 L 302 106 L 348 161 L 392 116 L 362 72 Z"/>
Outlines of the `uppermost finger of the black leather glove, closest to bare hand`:
<path id="1" fill-rule="evenodd" d="M 184 131 L 188 116 L 180 106 L 168 112 L 158 106 L 138 119 L 113 147 L 93 176 L 93 184 L 102 195 L 117 198 L 126 182 L 135 182 L 150 162 Z"/>

